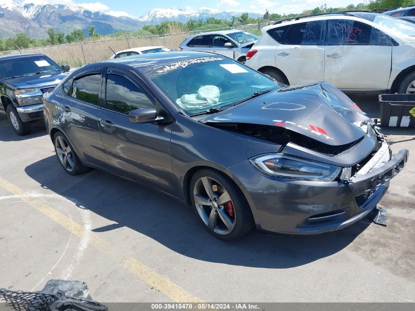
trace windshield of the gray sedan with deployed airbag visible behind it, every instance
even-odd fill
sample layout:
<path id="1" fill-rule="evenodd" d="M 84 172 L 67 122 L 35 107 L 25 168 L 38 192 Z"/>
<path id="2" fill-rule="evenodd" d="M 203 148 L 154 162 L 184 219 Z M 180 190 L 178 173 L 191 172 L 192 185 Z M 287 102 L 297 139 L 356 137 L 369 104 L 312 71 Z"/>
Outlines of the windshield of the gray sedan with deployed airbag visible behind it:
<path id="1" fill-rule="evenodd" d="M 141 71 L 189 115 L 225 109 L 259 92 L 280 88 L 257 71 L 220 56 L 185 59 Z"/>

